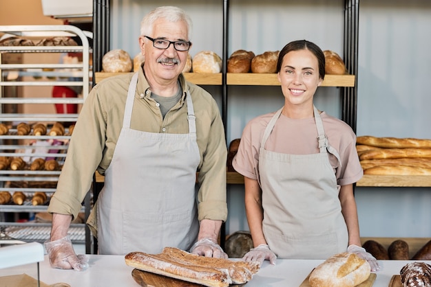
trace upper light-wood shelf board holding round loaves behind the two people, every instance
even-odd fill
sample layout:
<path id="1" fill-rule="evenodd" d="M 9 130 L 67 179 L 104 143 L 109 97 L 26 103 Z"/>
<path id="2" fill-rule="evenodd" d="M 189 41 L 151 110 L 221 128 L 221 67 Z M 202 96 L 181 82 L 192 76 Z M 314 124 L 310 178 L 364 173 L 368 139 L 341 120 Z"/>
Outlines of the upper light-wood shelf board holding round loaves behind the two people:
<path id="1" fill-rule="evenodd" d="M 120 73 L 96 72 L 96 84 Z M 184 73 L 193 84 L 221 85 L 222 73 Z M 280 86 L 275 73 L 227 73 L 228 85 Z M 326 75 L 322 87 L 355 87 L 355 75 Z"/>

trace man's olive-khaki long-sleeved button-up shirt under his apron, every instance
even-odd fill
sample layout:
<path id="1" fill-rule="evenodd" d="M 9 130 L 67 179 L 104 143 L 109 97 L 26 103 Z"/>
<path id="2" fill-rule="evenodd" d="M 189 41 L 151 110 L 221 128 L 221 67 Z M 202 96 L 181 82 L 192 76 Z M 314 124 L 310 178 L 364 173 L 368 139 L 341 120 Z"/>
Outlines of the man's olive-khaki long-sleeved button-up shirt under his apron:
<path id="1" fill-rule="evenodd" d="M 130 128 L 149 133 L 189 133 L 186 93 L 162 117 L 143 69 L 138 85 Z M 76 122 L 65 164 L 48 211 L 72 214 L 76 218 L 92 185 L 94 172 L 104 174 L 111 163 L 123 117 L 127 90 L 133 73 L 102 80 L 88 95 Z M 196 84 L 179 77 L 182 91 L 189 90 L 196 115 L 196 135 L 200 152 L 198 165 L 198 219 L 227 219 L 227 146 L 220 110 L 213 97 Z M 133 152 L 133 150 L 131 150 Z M 143 175 L 145 176 L 145 174 Z M 160 174 L 160 181 L 163 176 Z M 118 191 L 120 192 L 120 191 Z"/>

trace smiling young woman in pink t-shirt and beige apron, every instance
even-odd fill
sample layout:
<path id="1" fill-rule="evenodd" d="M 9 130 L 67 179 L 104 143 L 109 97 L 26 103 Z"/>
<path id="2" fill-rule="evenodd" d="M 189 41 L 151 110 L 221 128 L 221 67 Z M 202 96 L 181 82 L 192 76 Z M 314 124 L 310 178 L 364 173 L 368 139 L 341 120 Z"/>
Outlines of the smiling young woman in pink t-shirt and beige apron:
<path id="1" fill-rule="evenodd" d="M 244 175 L 246 216 L 254 249 L 244 260 L 326 259 L 361 248 L 353 183 L 363 170 L 353 130 L 317 110 L 313 97 L 325 76 L 323 51 L 288 43 L 277 62 L 284 106 L 244 128 L 233 167 Z"/>

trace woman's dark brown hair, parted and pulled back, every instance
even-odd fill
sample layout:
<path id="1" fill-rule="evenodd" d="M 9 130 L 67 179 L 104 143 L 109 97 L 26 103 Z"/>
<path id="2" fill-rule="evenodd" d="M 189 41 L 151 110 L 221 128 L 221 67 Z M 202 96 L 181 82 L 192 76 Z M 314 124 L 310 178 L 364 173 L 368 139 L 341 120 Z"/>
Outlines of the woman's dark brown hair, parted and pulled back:
<path id="1" fill-rule="evenodd" d="M 314 54 L 317 58 L 317 62 L 319 63 L 319 77 L 322 80 L 325 78 L 325 55 L 322 49 L 319 48 L 315 43 L 306 40 L 297 40 L 288 43 L 283 49 L 280 51 L 277 60 L 277 73 L 282 69 L 282 62 L 284 56 L 290 51 L 298 51 L 298 50 L 308 50 Z"/>

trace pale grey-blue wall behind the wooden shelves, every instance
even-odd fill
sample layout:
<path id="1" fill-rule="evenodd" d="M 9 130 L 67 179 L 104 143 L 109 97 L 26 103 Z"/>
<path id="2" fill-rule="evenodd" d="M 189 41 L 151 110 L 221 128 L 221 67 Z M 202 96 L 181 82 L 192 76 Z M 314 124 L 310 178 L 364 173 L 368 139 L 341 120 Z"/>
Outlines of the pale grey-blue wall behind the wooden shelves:
<path id="1" fill-rule="evenodd" d="M 230 1 L 229 49 L 261 54 L 307 39 L 342 56 L 344 1 Z M 378 2 L 376 4 L 375 2 Z M 138 53 L 139 24 L 158 5 L 180 5 L 192 17 L 191 55 L 222 55 L 222 1 L 112 0 L 112 49 Z M 431 138 L 431 1 L 361 0 L 359 8 L 358 135 Z M 220 87 L 204 87 L 220 103 Z M 249 119 L 283 103 L 280 87 L 229 87 L 227 140 Z M 340 117 L 339 89 L 320 88 L 315 104 Z M 227 233 L 248 230 L 243 187 L 229 186 Z M 429 237 L 430 189 L 357 188 L 362 236 Z M 419 216 L 418 216 L 419 215 Z"/>

